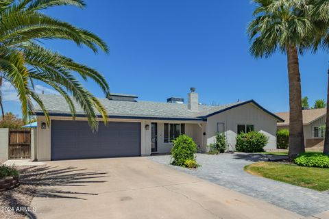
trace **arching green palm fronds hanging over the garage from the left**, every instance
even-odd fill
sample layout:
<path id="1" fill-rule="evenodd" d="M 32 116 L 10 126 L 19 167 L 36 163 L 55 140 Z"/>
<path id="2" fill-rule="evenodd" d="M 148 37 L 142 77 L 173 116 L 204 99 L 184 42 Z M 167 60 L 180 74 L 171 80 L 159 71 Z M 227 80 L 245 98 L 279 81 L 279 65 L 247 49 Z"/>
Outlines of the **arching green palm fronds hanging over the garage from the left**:
<path id="1" fill-rule="evenodd" d="M 78 47 L 83 45 L 95 53 L 108 47 L 101 38 L 74 27 L 64 21 L 40 12 L 58 5 L 84 8 L 82 0 L 0 0 L 0 81 L 9 81 L 21 102 L 25 123 L 34 114 L 32 101 L 40 105 L 49 124 L 49 114 L 42 100 L 34 91 L 35 81 L 42 81 L 57 90 L 69 105 L 73 119 L 75 103 L 84 110 L 88 123 L 97 129 L 97 111 L 107 121 L 107 112 L 99 101 L 86 90 L 73 75 L 93 79 L 105 93 L 109 93 L 106 79 L 97 70 L 74 62 L 71 58 L 53 52 L 40 44 L 40 40 L 71 40 Z M 1 95 L 0 106 L 2 109 Z"/>

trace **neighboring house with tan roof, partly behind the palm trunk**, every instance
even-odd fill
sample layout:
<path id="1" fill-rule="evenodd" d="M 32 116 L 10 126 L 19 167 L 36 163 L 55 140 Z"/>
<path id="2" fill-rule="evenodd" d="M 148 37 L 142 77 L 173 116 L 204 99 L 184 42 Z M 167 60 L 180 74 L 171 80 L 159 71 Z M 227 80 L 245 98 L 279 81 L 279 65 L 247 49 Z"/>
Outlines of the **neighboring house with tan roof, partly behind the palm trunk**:
<path id="1" fill-rule="evenodd" d="M 289 129 L 289 112 L 276 113 L 284 119 L 278 123 L 278 129 Z M 324 146 L 324 126 L 326 125 L 326 108 L 303 110 L 304 141 L 306 148 Z"/>

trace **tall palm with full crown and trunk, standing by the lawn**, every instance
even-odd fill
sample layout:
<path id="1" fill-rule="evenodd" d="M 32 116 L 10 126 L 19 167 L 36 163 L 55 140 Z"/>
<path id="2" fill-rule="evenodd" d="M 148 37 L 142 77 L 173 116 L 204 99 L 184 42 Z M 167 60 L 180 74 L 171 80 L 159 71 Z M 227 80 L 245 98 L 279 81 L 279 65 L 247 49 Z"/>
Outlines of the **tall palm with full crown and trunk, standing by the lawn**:
<path id="1" fill-rule="evenodd" d="M 249 23 L 249 52 L 270 57 L 277 51 L 287 55 L 289 76 L 289 156 L 304 153 L 302 94 L 299 54 L 310 48 L 318 26 L 310 18 L 308 0 L 254 0 L 254 20 Z"/>

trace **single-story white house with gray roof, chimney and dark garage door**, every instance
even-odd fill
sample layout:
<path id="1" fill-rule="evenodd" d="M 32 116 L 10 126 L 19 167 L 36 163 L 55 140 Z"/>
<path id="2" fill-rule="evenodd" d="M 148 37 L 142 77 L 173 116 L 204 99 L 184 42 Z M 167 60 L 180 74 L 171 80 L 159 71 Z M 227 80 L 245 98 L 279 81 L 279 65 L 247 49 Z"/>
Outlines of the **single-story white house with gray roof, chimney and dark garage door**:
<path id="1" fill-rule="evenodd" d="M 174 97 L 167 103 L 137 101 L 138 96 L 129 94 L 99 99 L 108 111 L 109 123 L 99 123 L 93 133 L 78 105 L 77 118 L 72 120 L 62 96 L 40 94 L 40 98 L 51 116 L 51 125 L 46 125 L 42 110 L 36 106 L 37 146 L 32 154 L 39 161 L 169 153 L 173 139 L 182 133 L 191 136 L 198 150 L 204 152 L 215 142 L 217 131 L 226 134 L 231 149 L 236 133 L 246 130 L 265 133 L 269 137 L 265 149 L 276 149 L 276 123 L 283 121 L 253 100 L 200 105 L 195 88 L 191 88 L 187 104 Z"/>

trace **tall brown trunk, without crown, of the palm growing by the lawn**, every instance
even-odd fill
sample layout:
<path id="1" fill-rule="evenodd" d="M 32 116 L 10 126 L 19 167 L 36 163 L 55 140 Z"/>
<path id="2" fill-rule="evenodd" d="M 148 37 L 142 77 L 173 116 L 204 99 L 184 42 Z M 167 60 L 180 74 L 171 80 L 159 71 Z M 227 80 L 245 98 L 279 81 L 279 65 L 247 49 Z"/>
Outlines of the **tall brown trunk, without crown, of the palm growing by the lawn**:
<path id="1" fill-rule="evenodd" d="M 300 66 L 296 47 L 287 48 L 288 75 L 289 75 L 289 157 L 295 158 L 305 152 L 302 88 L 300 84 Z"/>

